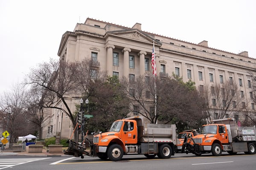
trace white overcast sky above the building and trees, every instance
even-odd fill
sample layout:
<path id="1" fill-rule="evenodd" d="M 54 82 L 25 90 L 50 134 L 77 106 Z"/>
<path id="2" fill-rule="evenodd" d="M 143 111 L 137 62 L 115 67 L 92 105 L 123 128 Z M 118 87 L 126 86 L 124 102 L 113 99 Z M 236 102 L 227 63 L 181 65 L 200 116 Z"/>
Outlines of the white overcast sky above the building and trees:
<path id="1" fill-rule="evenodd" d="M 255 0 L 0 0 L 0 94 L 87 17 L 256 58 Z"/>

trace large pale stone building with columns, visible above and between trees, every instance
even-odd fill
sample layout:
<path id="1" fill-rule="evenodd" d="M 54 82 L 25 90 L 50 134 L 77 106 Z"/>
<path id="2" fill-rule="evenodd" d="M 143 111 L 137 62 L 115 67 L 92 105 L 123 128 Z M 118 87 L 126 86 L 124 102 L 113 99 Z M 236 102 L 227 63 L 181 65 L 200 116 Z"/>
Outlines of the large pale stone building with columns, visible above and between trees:
<path id="1" fill-rule="evenodd" d="M 248 57 L 247 51 L 233 54 L 210 48 L 207 41 L 195 44 L 148 33 L 141 30 L 140 23 L 128 28 L 87 18 L 85 23 L 77 23 L 73 32 L 63 34 L 58 56 L 66 62 L 92 58 L 98 62 L 92 71 L 100 68 L 101 71 L 108 71 L 109 75 L 136 78 L 152 74 L 153 41 L 157 75 L 172 75 L 174 72 L 183 77 L 184 82 L 191 79 L 196 86 L 210 86 L 233 79 L 240 85 L 244 100 L 251 104 L 249 110 L 254 111 L 254 103 L 250 99 L 252 79 L 249 72 L 256 71 L 256 59 Z M 79 99 L 77 96 L 70 98 L 72 111 L 75 111 L 75 103 L 79 103 Z M 42 137 L 54 136 L 61 131 L 62 137 L 69 138 L 73 131 L 69 118 L 56 110 L 49 113 Z M 52 132 L 48 133 L 47 127 L 51 127 Z"/>

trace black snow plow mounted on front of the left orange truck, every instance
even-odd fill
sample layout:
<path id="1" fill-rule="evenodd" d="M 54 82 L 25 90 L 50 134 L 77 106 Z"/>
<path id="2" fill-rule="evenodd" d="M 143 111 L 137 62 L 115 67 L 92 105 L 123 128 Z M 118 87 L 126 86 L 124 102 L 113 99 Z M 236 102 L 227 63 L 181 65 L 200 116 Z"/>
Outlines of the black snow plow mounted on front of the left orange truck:
<path id="1" fill-rule="evenodd" d="M 92 156 L 90 152 L 86 151 L 86 147 L 73 141 L 73 140 L 68 140 L 68 148 L 65 150 L 64 154 L 65 155 L 73 155 L 75 157 L 80 157 L 83 159 L 83 155 L 87 156 Z"/>

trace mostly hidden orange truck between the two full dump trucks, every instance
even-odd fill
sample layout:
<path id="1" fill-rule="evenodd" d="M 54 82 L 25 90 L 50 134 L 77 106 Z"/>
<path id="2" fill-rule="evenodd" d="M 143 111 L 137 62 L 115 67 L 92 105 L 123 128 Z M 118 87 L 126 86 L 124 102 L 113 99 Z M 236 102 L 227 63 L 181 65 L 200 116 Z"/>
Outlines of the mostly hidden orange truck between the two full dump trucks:
<path id="1" fill-rule="evenodd" d="M 182 132 L 180 132 L 177 136 L 177 145 L 175 150 L 176 153 L 181 152 L 185 137 L 187 137 L 187 140 L 188 140 L 187 142 L 189 143 L 191 141 L 190 139 L 195 135 L 197 135 L 196 129 L 183 130 Z"/>

